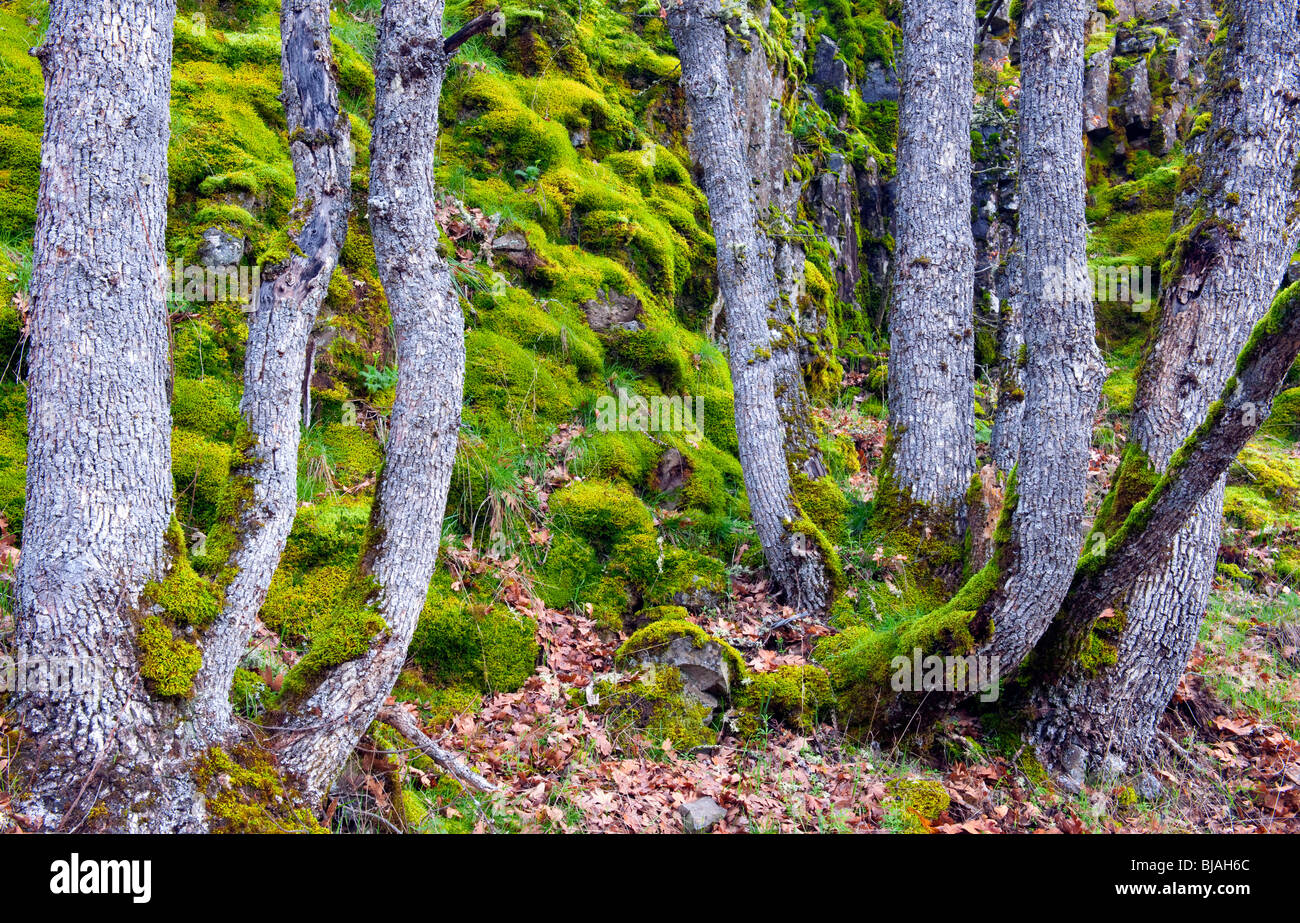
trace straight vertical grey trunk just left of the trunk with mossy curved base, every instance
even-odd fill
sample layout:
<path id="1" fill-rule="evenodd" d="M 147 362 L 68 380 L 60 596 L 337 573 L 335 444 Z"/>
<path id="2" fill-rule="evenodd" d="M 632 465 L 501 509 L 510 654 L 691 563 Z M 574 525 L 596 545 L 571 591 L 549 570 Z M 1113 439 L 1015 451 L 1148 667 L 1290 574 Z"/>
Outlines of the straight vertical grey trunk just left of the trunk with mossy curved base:
<path id="1" fill-rule="evenodd" d="M 904 4 L 889 476 L 946 530 L 975 472 L 974 44 L 974 0 Z"/>

